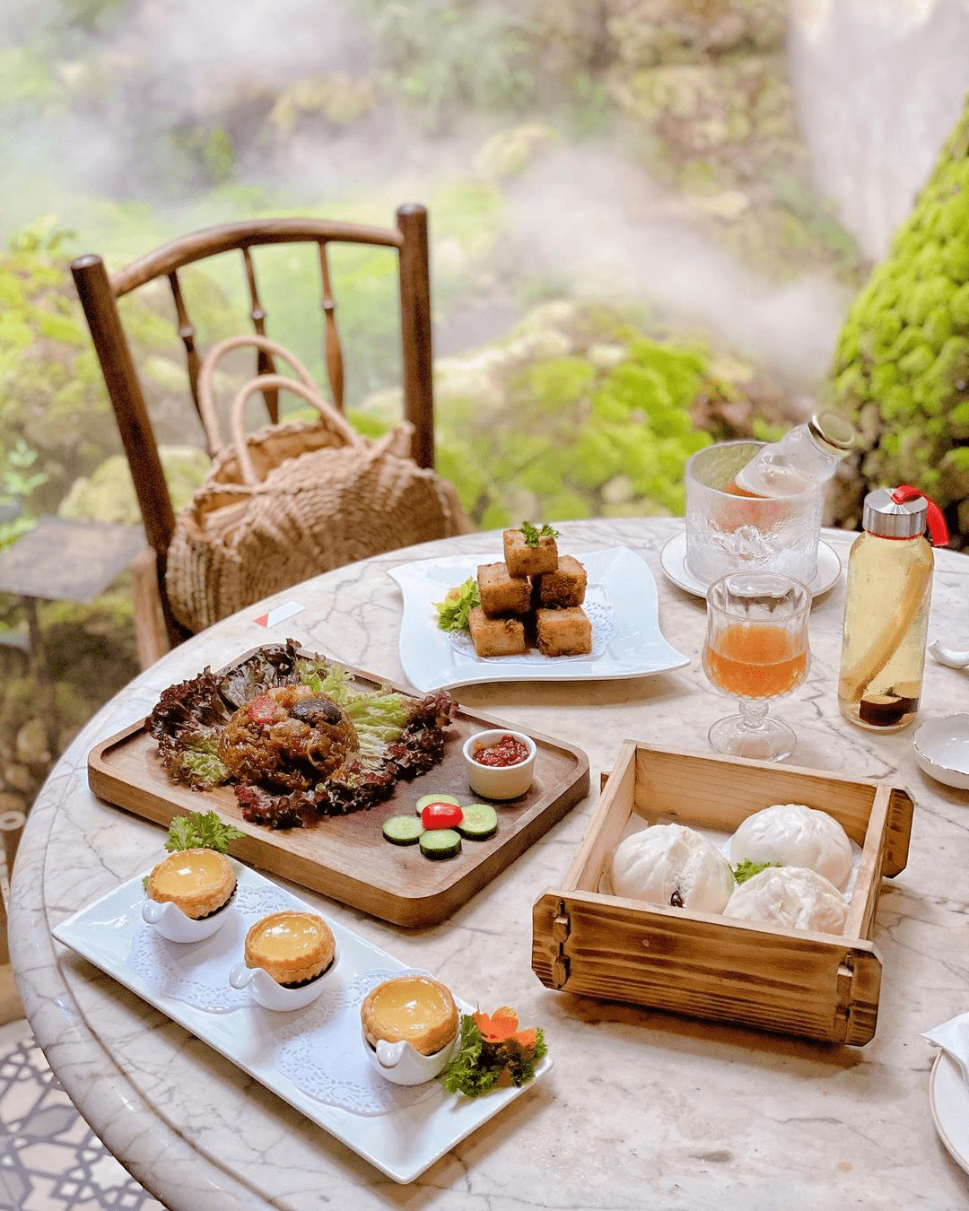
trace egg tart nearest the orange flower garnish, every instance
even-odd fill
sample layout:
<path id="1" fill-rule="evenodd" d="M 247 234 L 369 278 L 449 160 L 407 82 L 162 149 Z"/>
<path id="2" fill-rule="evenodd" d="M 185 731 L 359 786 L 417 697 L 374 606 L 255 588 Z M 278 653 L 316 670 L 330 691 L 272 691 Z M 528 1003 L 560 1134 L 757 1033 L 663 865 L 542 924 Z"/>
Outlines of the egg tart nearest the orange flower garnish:
<path id="1" fill-rule="evenodd" d="M 430 1056 L 458 1033 L 458 1006 L 448 989 L 430 976 L 395 976 L 372 988 L 360 1006 L 363 1035 L 371 1046 L 378 1039 L 409 1043 Z"/>

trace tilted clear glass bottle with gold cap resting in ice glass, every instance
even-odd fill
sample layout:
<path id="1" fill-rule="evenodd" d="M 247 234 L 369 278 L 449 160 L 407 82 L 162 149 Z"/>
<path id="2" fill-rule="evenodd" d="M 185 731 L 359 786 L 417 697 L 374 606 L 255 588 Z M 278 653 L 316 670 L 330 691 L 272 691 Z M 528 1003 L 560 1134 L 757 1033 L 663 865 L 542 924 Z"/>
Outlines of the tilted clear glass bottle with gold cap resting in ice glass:
<path id="1" fill-rule="evenodd" d="M 736 497 L 793 497 L 826 483 L 854 444 L 852 424 L 820 412 L 763 446 L 724 489 Z"/>

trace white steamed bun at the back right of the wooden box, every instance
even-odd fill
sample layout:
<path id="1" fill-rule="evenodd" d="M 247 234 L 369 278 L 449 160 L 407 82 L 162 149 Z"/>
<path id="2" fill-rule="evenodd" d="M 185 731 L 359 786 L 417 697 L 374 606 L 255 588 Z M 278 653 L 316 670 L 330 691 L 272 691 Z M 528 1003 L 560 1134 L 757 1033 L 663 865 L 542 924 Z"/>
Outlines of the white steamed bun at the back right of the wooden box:
<path id="1" fill-rule="evenodd" d="M 775 803 L 755 811 L 730 838 L 730 861 L 805 866 L 835 884 L 848 886 L 852 843 L 838 821 L 803 803 Z"/>

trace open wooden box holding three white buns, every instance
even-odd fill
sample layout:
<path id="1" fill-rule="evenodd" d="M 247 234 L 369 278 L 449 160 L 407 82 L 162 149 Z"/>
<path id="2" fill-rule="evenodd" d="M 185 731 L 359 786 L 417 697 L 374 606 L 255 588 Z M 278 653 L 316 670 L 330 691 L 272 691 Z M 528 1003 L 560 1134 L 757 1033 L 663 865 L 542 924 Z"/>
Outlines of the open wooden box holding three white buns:
<path id="1" fill-rule="evenodd" d="M 532 968 L 549 988 L 856 1046 L 875 1034 L 882 878 L 905 868 L 913 803 L 881 782 L 625 741 L 561 890 L 533 909 Z M 814 934 L 603 895 L 635 813 L 733 833 L 773 803 L 821 808 L 861 846 L 844 934 Z"/>

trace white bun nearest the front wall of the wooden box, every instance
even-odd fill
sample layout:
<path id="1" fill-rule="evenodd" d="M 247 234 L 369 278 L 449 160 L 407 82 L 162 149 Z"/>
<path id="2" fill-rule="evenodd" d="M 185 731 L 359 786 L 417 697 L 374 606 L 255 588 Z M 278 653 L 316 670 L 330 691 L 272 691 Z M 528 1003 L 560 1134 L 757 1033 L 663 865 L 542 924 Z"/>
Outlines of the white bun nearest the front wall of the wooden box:
<path id="1" fill-rule="evenodd" d="M 838 889 L 816 871 L 774 866 L 741 883 L 723 916 L 818 934 L 841 934 L 848 905 Z"/>

